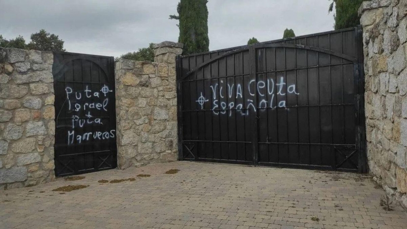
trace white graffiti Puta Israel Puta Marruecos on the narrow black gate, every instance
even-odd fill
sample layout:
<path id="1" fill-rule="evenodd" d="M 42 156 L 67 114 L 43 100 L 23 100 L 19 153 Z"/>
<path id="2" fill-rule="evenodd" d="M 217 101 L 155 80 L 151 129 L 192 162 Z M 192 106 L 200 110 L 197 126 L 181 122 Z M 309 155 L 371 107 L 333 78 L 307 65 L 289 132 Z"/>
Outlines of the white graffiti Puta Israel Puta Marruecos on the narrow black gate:
<path id="1" fill-rule="evenodd" d="M 72 115 L 72 130 L 68 130 L 67 143 L 69 145 L 81 144 L 84 141 L 90 140 L 106 140 L 115 137 L 116 130 L 110 131 L 93 131 L 85 132 L 81 131 L 81 134 L 75 134 L 75 129 L 84 128 L 86 125 L 103 125 L 101 118 L 95 118 L 91 111 L 108 111 L 108 94 L 113 92 L 107 85 L 95 92 L 89 89 L 89 85 L 85 86 L 85 90 L 74 92 L 71 87 L 65 88 L 66 100 L 68 103 L 68 111 L 74 112 Z M 205 102 L 205 99 L 203 100 Z M 202 103 L 203 105 L 203 103 Z M 84 114 L 84 117 L 80 117 L 80 113 Z"/>

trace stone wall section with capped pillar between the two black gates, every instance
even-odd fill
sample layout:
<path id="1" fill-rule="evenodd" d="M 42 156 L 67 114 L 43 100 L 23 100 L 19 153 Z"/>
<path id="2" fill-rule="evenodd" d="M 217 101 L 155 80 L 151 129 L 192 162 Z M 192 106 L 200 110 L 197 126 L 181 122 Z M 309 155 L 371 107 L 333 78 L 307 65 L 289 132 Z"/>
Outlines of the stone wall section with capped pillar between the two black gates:
<path id="1" fill-rule="evenodd" d="M 119 168 L 177 160 L 175 58 L 182 47 L 163 42 L 154 63 L 115 63 Z"/>

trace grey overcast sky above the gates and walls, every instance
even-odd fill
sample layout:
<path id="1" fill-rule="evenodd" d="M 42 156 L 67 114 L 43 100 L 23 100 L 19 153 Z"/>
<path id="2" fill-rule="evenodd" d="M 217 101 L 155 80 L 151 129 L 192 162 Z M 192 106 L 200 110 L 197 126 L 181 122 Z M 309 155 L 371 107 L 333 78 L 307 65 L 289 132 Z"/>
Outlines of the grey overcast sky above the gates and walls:
<path id="1" fill-rule="evenodd" d="M 44 28 L 70 52 L 120 56 L 149 43 L 178 41 L 179 0 L 0 0 L 0 34 L 6 39 Z M 333 30 L 328 0 L 209 0 L 210 50 Z"/>

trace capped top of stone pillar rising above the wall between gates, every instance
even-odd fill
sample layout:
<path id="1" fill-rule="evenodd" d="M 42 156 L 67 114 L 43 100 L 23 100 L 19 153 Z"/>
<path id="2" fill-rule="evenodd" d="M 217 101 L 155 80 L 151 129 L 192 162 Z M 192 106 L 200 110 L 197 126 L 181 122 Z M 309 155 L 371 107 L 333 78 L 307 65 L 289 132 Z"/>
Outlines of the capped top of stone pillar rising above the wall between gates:
<path id="1" fill-rule="evenodd" d="M 154 45 L 154 62 L 175 65 L 175 57 L 182 54 L 181 43 L 164 41 Z"/>

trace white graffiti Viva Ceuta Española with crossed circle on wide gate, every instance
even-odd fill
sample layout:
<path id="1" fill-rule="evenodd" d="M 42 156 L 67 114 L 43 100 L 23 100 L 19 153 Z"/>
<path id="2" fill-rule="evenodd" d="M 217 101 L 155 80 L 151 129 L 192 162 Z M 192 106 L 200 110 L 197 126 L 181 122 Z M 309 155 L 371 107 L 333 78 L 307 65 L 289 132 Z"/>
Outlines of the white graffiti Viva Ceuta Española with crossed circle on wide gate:
<path id="1" fill-rule="evenodd" d="M 223 80 L 220 80 L 220 83 L 223 83 Z M 214 115 L 225 114 L 227 111 L 228 115 L 232 115 L 232 110 L 239 111 L 240 115 L 247 116 L 249 115 L 249 110 L 256 111 L 258 108 L 277 108 L 285 107 L 286 101 L 285 96 L 287 94 L 299 95 L 296 90 L 295 84 L 288 85 L 284 81 L 284 77 L 279 77 L 274 82 L 273 78 L 268 78 L 266 80 L 256 80 L 252 79 L 246 85 L 247 91 L 246 95 L 242 90 L 243 86 L 240 83 L 227 83 L 226 90 L 223 90 L 223 86 L 219 83 L 210 85 L 212 91 L 212 112 Z M 226 92 L 224 92 L 226 91 Z M 254 96 L 257 93 L 257 106 L 254 104 Z M 227 97 L 227 98 L 226 98 Z M 246 98 L 246 102 L 243 101 L 243 97 Z M 224 102 L 219 101 L 226 98 L 227 99 L 240 99 L 241 102 L 237 101 Z M 280 98 L 278 101 L 276 98 Z M 200 105 L 201 109 L 206 102 L 209 102 L 209 99 L 206 99 L 202 92 L 200 97 L 196 100 Z"/>

